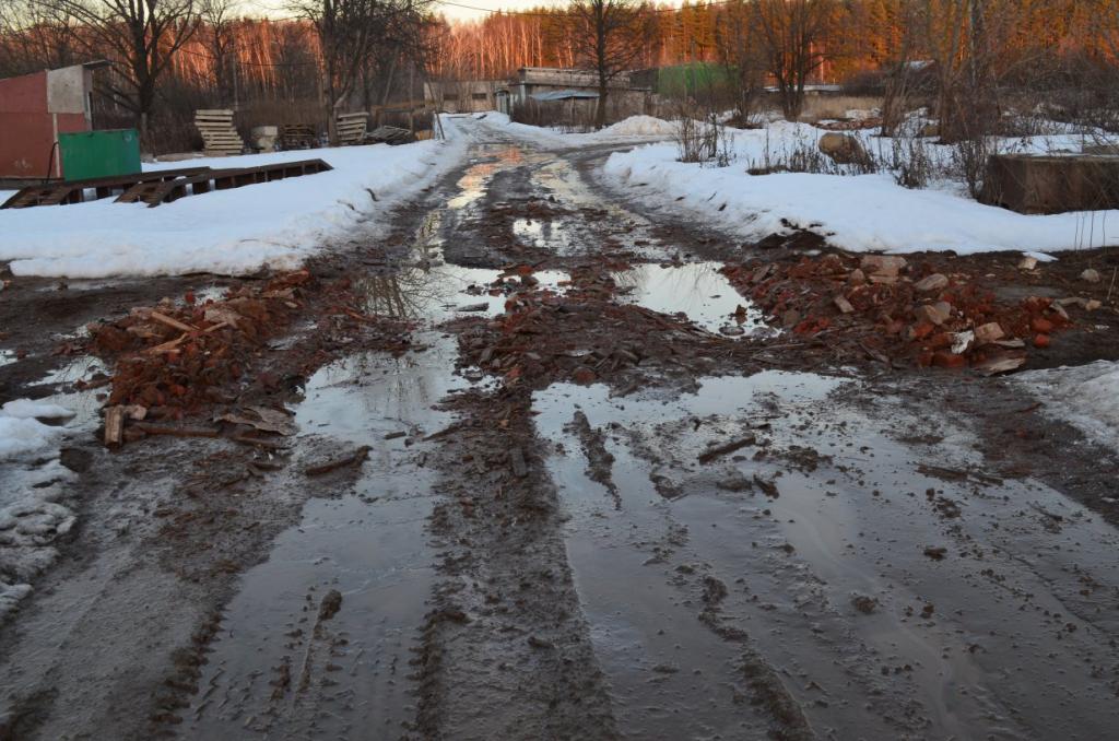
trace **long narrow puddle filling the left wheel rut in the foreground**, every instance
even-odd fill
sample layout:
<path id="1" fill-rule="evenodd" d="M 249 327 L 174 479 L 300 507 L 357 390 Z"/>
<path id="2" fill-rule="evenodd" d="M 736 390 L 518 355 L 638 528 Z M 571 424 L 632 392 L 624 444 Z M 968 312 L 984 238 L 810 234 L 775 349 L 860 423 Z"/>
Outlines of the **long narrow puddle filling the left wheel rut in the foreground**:
<path id="1" fill-rule="evenodd" d="M 435 473 L 422 438 L 449 421 L 432 406 L 466 386 L 451 375 L 453 343 L 419 339 L 423 353 L 355 355 L 309 381 L 301 448 L 335 458 L 361 444 L 370 456 L 352 493 L 311 499 L 242 578 L 187 714 L 191 738 L 396 738 L 414 719 L 410 648 L 434 579 L 424 527 Z M 302 477 L 307 465 L 289 470 Z M 317 625 L 330 590 L 341 608 Z"/>

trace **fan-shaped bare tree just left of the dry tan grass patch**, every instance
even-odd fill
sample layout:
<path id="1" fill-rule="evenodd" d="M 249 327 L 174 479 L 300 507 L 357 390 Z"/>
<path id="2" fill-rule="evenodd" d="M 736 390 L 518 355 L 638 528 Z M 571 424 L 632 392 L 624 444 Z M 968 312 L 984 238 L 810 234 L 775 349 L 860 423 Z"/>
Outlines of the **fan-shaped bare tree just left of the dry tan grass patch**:
<path id="1" fill-rule="evenodd" d="M 800 118 L 805 84 L 824 63 L 824 37 L 833 10 L 830 0 L 755 0 L 758 43 L 767 72 L 777 83 L 781 112 Z"/>

